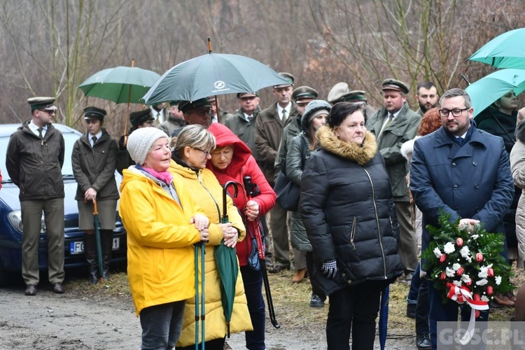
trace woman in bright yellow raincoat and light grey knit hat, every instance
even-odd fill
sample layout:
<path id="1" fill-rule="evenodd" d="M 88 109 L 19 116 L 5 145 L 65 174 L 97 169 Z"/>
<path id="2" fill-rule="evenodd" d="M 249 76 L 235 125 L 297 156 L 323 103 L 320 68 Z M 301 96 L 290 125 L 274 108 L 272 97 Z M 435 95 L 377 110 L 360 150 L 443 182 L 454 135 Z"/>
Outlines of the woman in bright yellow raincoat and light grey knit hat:
<path id="1" fill-rule="evenodd" d="M 167 134 L 136 130 L 127 150 L 137 163 L 125 169 L 120 217 L 127 231 L 127 274 L 142 326 L 142 349 L 172 349 L 181 334 L 184 304 L 195 296 L 193 244 L 218 231 L 167 169 Z"/>

